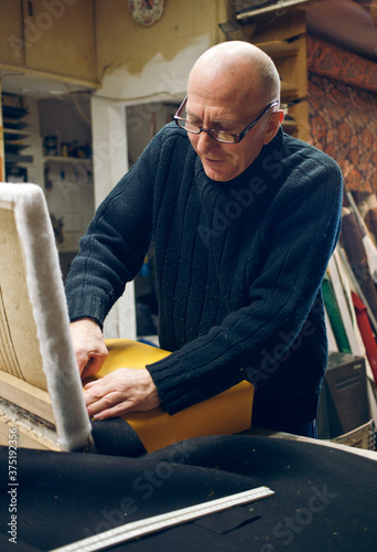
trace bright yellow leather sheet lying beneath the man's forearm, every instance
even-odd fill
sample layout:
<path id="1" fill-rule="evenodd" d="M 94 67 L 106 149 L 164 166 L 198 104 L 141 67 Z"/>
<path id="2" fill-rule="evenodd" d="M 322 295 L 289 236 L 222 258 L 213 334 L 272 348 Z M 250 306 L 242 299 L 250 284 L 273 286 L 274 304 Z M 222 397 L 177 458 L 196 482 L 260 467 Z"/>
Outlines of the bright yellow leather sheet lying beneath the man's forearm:
<path id="1" fill-rule="evenodd" d="M 144 368 L 170 354 L 128 339 L 109 339 L 106 346 L 109 355 L 96 379 L 118 368 Z M 244 381 L 172 416 L 157 407 L 149 412 L 127 414 L 123 420 L 132 426 L 150 453 L 191 437 L 233 435 L 248 429 L 251 425 L 252 400 L 254 386 Z"/>

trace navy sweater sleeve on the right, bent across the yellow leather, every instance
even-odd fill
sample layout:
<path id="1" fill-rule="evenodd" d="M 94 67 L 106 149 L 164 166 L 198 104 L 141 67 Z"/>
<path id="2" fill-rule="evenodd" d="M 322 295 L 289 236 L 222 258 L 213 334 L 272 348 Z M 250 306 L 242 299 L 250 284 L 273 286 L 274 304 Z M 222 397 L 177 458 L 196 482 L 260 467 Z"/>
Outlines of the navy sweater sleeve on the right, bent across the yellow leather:
<path id="1" fill-rule="evenodd" d="M 272 231 L 266 232 L 268 252 L 250 282 L 248 305 L 147 367 L 170 414 L 245 379 L 244 369 L 260 368 L 263 351 L 283 355 L 299 335 L 340 233 L 342 174 L 324 159 L 292 170 L 266 215 L 265 227 Z M 289 337 L 284 347 L 281 332 Z"/>

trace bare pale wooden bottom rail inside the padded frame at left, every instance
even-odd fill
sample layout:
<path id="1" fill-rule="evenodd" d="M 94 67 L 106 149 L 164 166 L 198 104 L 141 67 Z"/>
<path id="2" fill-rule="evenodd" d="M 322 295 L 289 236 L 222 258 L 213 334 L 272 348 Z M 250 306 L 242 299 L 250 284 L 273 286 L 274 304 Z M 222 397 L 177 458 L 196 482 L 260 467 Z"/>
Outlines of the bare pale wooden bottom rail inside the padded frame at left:
<path id="1" fill-rule="evenodd" d="M 55 424 L 51 399 L 46 391 L 0 371 L 1 396 L 47 422 Z"/>

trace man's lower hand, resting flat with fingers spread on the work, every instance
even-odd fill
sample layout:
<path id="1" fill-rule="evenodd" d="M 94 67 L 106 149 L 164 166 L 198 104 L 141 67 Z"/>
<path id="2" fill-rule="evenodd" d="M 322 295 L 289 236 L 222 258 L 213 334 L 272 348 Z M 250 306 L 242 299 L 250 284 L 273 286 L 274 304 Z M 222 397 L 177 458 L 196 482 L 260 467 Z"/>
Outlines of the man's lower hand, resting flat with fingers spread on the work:
<path id="1" fill-rule="evenodd" d="M 149 411 L 161 403 L 147 369 L 119 368 L 84 388 L 89 416 L 107 420 L 129 412 Z"/>

